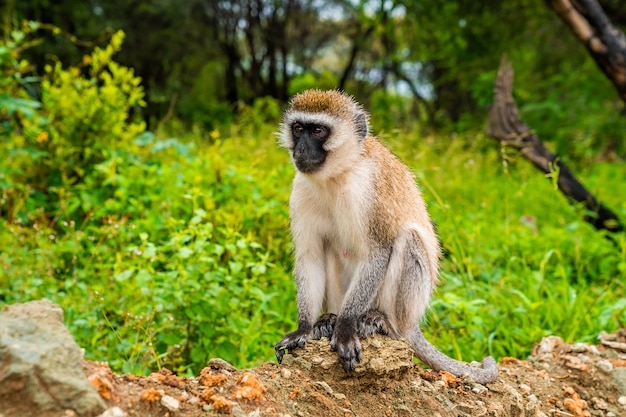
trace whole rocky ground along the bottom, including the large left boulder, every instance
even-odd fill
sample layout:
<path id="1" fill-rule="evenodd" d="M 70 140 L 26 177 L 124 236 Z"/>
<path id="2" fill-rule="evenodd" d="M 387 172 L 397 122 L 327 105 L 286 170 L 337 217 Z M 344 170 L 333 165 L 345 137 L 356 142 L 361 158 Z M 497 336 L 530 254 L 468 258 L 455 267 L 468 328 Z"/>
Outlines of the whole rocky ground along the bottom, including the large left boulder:
<path id="1" fill-rule="evenodd" d="M 626 416 L 626 329 L 598 345 L 544 338 L 527 360 L 502 360 L 487 386 L 423 370 L 406 344 L 383 336 L 363 341 L 350 376 L 320 340 L 280 366 L 237 370 L 212 359 L 197 378 L 115 375 L 81 362 L 68 337 L 47 300 L 0 312 L 0 417 Z"/>

